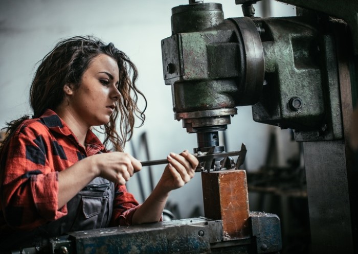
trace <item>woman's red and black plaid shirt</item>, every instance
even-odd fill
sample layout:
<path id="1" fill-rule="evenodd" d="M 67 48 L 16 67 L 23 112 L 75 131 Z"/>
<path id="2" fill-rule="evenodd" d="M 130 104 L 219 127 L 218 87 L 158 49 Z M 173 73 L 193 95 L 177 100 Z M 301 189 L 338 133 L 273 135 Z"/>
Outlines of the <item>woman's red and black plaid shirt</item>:
<path id="1" fill-rule="evenodd" d="M 70 128 L 48 109 L 17 128 L 1 158 L 0 235 L 10 228 L 33 229 L 67 214 L 57 207 L 58 172 L 82 158 L 107 152 L 88 130 L 83 148 Z M 4 163 L 5 162 L 5 163 Z M 125 186 L 116 185 L 111 226 L 130 225 L 139 207 Z"/>

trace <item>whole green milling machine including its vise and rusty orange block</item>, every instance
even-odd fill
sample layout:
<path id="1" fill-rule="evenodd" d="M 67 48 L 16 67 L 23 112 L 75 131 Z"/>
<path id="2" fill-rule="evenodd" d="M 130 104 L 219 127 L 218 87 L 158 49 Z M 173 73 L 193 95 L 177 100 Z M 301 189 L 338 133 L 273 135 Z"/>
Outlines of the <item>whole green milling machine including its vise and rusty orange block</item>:
<path id="1" fill-rule="evenodd" d="M 172 35 L 162 40 L 174 118 L 196 133 L 196 154 L 218 155 L 200 159 L 206 216 L 75 232 L 53 239 L 51 253 L 278 253 L 278 217 L 248 213 L 242 203 L 230 211 L 230 202 L 247 200 L 235 196 L 247 191 L 245 175 L 216 170 L 233 167 L 223 162 L 230 153 L 218 133 L 243 105 L 253 106 L 255 121 L 292 128 L 303 142 L 314 253 L 356 253 L 356 178 L 346 130 L 358 4 L 281 0 L 302 7 L 298 16 L 255 18 L 256 2 L 236 0 L 245 17 L 224 19 L 220 4 L 190 0 L 172 9 Z"/>

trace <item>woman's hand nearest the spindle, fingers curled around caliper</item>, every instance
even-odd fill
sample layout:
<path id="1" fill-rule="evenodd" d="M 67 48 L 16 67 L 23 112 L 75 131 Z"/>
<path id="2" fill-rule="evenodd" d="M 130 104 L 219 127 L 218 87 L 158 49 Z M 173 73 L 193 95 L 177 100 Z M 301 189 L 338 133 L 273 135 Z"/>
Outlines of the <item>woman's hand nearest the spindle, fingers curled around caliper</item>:
<path id="1" fill-rule="evenodd" d="M 169 164 L 165 167 L 158 185 L 169 192 L 184 186 L 194 177 L 199 161 L 188 150 L 181 154 L 170 153 L 167 159 Z"/>

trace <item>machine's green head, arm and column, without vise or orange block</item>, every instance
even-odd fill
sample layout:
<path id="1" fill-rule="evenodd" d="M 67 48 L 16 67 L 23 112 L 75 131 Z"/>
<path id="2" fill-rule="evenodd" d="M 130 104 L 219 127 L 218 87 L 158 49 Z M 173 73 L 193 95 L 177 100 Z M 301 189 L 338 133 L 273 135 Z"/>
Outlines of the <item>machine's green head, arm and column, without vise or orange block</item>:
<path id="1" fill-rule="evenodd" d="M 223 18 L 220 4 L 172 9 L 162 40 L 164 79 L 174 118 L 197 134 L 198 148 L 218 147 L 237 106 L 253 119 L 291 128 L 303 142 L 312 253 L 357 253 L 357 200 L 347 142 L 357 97 L 358 3 L 280 0 L 298 16 Z"/>

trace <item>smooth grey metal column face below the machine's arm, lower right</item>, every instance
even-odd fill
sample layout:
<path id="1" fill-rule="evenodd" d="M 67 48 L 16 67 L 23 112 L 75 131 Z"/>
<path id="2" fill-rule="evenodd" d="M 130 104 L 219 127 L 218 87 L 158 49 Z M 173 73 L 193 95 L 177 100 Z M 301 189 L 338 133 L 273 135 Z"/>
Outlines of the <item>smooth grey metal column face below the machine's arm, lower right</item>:
<path id="1" fill-rule="evenodd" d="M 303 149 L 312 253 L 355 253 L 345 144 L 305 142 Z"/>

